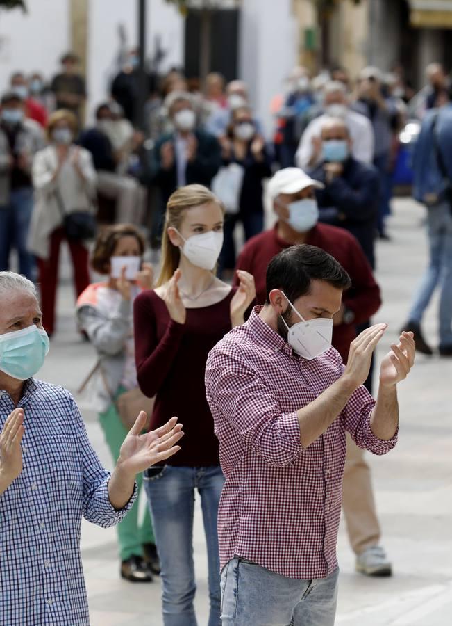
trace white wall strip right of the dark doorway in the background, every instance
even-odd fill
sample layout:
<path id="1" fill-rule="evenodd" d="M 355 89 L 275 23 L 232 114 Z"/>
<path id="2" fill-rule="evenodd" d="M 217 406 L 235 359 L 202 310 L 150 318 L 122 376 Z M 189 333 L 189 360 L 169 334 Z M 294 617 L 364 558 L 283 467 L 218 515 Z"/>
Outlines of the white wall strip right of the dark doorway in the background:
<path id="1" fill-rule="evenodd" d="M 243 0 L 240 78 L 249 84 L 251 102 L 266 134 L 274 128 L 271 99 L 281 93 L 285 77 L 297 65 L 298 38 L 292 0 Z"/>

